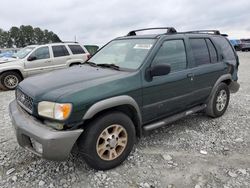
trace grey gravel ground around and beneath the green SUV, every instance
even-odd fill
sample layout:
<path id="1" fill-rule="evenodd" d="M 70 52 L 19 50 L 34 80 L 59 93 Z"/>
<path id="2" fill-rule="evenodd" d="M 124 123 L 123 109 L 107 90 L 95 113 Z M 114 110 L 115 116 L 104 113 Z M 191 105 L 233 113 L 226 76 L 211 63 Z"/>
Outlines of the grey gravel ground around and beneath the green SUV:
<path id="1" fill-rule="evenodd" d="M 250 187 L 250 53 L 239 56 L 241 88 L 223 117 L 195 114 L 152 131 L 105 172 L 77 154 L 52 162 L 19 147 L 8 115 L 14 92 L 0 92 L 0 187 Z"/>

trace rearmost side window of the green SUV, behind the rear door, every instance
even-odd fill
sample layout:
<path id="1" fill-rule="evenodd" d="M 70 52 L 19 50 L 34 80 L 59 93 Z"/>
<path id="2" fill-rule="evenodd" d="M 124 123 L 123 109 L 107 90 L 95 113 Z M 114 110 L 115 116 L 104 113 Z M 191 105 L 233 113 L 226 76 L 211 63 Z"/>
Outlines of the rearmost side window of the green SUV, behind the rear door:
<path id="1" fill-rule="evenodd" d="M 225 60 L 236 61 L 234 51 L 231 45 L 229 44 L 229 42 L 224 37 L 214 37 L 214 39 L 215 39 L 216 44 L 221 47 L 223 58 Z"/>

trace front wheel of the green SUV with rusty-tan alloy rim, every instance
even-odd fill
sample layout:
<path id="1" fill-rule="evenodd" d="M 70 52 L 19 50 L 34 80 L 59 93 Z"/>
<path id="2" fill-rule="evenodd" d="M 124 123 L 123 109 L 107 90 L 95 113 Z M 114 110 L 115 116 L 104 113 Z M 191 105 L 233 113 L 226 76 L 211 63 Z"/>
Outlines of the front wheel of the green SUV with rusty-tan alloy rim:
<path id="1" fill-rule="evenodd" d="M 126 114 L 105 113 L 87 125 L 77 142 L 79 153 L 91 168 L 108 170 L 128 157 L 135 135 L 134 124 Z"/>

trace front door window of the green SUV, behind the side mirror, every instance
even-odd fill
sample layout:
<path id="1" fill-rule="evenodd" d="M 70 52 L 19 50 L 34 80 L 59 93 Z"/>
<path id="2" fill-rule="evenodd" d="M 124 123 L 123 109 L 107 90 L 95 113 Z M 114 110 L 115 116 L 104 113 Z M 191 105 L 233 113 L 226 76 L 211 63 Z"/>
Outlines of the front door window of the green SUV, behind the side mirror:
<path id="1" fill-rule="evenodd" d="M 154 64 L 169 64 L 171 72 L 186 68 L 187 59 L 183 40 L 170 40 L 162 44 L 154 58 Z"/>

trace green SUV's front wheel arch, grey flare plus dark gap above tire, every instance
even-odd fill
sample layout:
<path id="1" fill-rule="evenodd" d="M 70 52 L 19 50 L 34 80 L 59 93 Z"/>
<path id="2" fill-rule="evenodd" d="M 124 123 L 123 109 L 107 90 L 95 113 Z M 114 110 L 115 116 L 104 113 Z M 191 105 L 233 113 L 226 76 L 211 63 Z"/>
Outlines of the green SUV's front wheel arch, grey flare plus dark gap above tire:
<path id="1" fill-rule="evenodd" d="M 85 113 L 83 121 L 91 121 L 91 119 L 111 111 L 120 111 L 129 116 L 135 125 L 136 135 L 141 137 L 142 118 L 140 108 L 137 102 L 127 95 L 112 97 L 95 103 Z"/>

